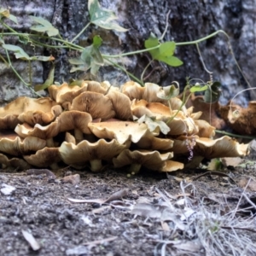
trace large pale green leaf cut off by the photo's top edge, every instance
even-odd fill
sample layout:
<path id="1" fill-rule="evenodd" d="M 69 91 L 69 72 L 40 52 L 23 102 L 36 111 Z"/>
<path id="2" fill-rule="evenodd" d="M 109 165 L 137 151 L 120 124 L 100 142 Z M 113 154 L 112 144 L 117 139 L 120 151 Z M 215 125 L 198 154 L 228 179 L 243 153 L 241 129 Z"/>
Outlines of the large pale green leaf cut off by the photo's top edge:
<path id="1" fill-rule="evenodd" d="M 90 13 L 90 22 L 96 26 L 101 26 L 105 29 L 113 29 L 118 32 L 126 32 L 122 26 L 119 26 L 114 20 L 117 20 L 117 16 L 114 15 L 113 11 L 103 9 L 97 0 L 88 1 L 88 9 Z"/>

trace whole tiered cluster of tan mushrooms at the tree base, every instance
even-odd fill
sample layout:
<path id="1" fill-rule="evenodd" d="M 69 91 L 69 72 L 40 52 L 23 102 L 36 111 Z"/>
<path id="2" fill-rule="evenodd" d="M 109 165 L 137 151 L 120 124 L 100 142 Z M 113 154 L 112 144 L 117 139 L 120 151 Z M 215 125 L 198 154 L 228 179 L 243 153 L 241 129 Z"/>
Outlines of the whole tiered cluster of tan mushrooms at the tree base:
<path id="1" fill-rule="evenodd" d="M 142 166 L 158 172 L 183 169 L 184 160 L 247 154 L 247 144 L 213 139 L 215 127 L 169 87 L 129 81 L 49 86 L 49 97 L 22 96 L 0 108 L 0 163 L 27 168 L 73 166 L 100 172 L 104 166 Z"/>

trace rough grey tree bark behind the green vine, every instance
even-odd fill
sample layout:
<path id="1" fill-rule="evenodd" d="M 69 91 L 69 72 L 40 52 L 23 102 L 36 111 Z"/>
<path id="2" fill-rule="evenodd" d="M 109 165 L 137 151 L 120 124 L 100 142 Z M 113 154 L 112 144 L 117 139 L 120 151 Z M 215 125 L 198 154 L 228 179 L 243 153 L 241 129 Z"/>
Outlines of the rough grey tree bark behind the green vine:
<path id="1" fill-rule="evenodd" d="M 245 77 L 252 86 L 256 85 L 255 0 L 102 0 L 99 2 L 102 7 L 112 9 L 119 17 L 119 25 L 128 28 L 129 31 L 113 32 L 90 26 L 76 43 L 89 45 L 93 36 L 99 34 L 103 39 L 102 53 L 110 55 L 143 49 L 144 41 L 150 32 L 160 38 L 166 27 L 166 14 L 171 10 L 167 18 L 168 29 L 164 41 L 193 41 L 222 29 L 230 36 L 236 60 Z M 1 4 L 3 8 L 10 7 L 10 12 L 18 17 L 19 25 L 14 23 L 9 25 L 21 32 L 28 32 L 29 27 L 32 26 L 32 20 L 28 15 L 43 16 L 60 30 L 63 38 L 71 40 L 89 21 L 88 3 L 83 0 L 9 0 L 2 1 Z M 9 39 L 13 44 L 17 43 L 15 40 L 17 38 Z M 212 72 L 213 79 L 219 80 L 222 84 L 222 102 L 227 102 L 236 92 L 247 88 L 245 80 L 230 55 L 227 42 L 227 38 L 220 34 L 199 44 L 207 69 Z M 26 46 L 26 51 L 34 54 L 32 47 Z M 69 57 L 78 53 L 38 48 L 36 51 L 41 55 L 55 56 L 55 81 L 62 83 L 71 78 L 81 77 L 81 73 L 69 73 L 71 67 L 67 61 Z M 183 66 L 168 67 L 166 64 L 154 61 L 146 73 L 146 76 L 150 74 L 146 81 L 167 85 L 176 80 L 183 87 L 186 77 L 209 80 L 209 74 L 202 67 L 195 45 L 178 46 L 176 55 L 183 61 Z M 146 53 L 122 58 L 119 64 L 140 77 L 149 60 L 150 55 Z M 15 58 L 13 61 L 22 78 L 27 80 L 26 62 L 17 61 Z M 49 73 L 49 64 L 33 62 L 32 67 L 33 84 L 42 84 Z M 82 75 L 88 78 L 88 75 Z M 17 96 L 33 96 L 32 91 L 28 90 L 3 62 L 0 62 L 0 78 L 2 85 L 0 104 L 9 102 Z M 106 66 L 102 67 L 96 79 L 108 80 L 114 86 L 119 86 L 129 78 L 116 68 Z M 237 97 L 237 102 L 245 105 L 250 96 L 253 99 L 253 94 L 243 93 Z"/>

